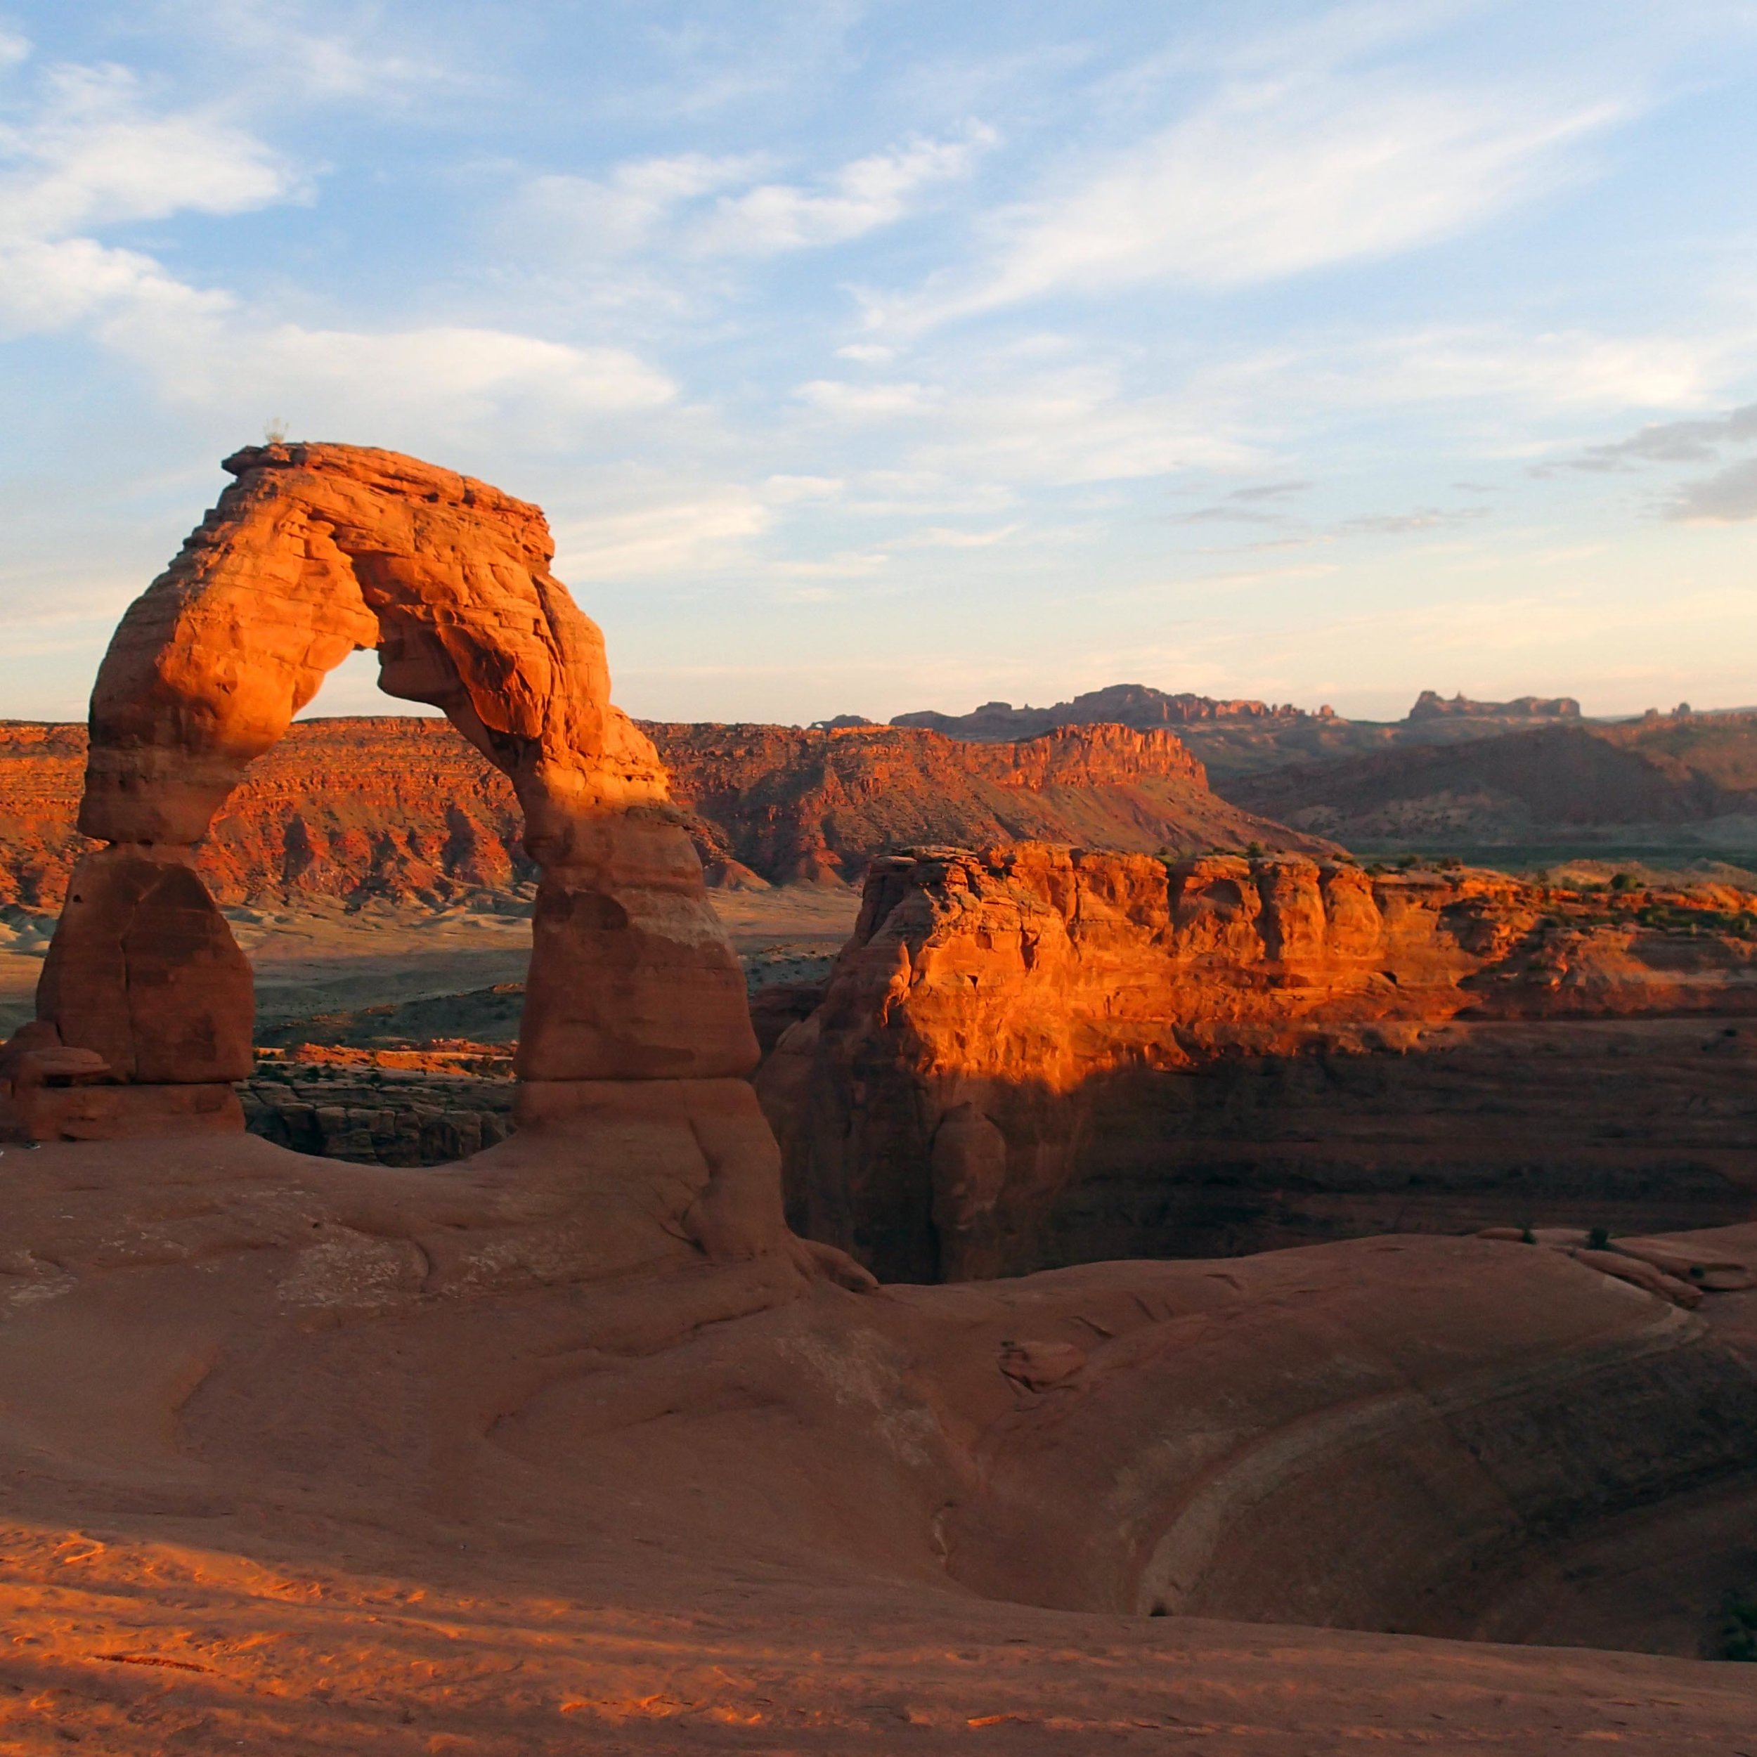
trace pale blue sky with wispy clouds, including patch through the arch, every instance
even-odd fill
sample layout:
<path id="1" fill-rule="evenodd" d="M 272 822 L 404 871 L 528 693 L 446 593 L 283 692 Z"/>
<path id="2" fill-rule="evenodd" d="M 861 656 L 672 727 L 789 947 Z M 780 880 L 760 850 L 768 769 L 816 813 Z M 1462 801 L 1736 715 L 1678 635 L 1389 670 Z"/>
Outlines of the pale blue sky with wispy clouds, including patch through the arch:
<path id="1" fill-rule="evenodd" d="M 1757 703 L 1753 167 L 1757 0 L 0 0 L 0 717 L 271 429 L 655 719 Z"/>

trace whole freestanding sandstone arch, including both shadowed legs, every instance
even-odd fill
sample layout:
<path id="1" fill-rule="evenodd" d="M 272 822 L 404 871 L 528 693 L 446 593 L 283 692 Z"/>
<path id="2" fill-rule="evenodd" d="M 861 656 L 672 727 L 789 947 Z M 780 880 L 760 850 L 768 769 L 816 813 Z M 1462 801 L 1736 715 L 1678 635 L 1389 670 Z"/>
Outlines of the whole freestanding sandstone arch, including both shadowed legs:
<path id="1" fill-rule="evenodd" d="M 550 573 L 543 513 L 392 452 L 271 445 L 128 608 L 91 696 L 88 854 L 9 1047 L 39 1137 L 241 1128 L 251 979 L 192 857 L 246 764 L 357 648 L 511 778 L 541 868 L 520 1114 L 566 1123 L 668 1088 L 710 1167 L 775 1182 L 743 1084 L 738 959 L 652 743 L 610 703 L 604 641 Z M 636 1088 L 631 1091 L 629 1088 Z M 701 1088 L 701 1089 L 696 1089 Z M 683 1100 L 689 1098 L 685 1103 Z M 747 1102 L 748 1100 L 748 1102 Z M 727 1109 L 729 1107 L 729 1109 Z M 764 1161 L 757 1165 L 756 1161 Z M 773 1174 L 773 1175 L 771 1175 Z"/>

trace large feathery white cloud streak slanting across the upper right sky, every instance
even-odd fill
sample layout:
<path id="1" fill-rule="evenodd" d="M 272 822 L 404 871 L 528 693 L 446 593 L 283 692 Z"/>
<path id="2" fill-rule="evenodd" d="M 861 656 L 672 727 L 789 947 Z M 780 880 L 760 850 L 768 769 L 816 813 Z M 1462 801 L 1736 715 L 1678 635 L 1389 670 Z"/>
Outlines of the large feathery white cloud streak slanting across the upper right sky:
<path id="1" fill-rule="evenodd" d="M 1629 114 L 1377 72 L 1232 83 L 998 214 L 984 269 L 877 300 L 875 323 L 919 329 L 1051 293 L 1247 286 L 1390 257 L 1553 190 L 1580 172 L 1578 149 Z"/>

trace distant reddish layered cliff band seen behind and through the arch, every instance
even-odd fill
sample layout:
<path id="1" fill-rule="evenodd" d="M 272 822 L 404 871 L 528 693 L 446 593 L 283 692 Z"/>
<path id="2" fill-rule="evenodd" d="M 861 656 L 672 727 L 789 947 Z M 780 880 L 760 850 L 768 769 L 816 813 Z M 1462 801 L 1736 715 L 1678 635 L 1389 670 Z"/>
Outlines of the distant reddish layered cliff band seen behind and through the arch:
<path id="1" fill-rule="evenodd" d="M 1167 733 L 1081 727 L 1017 745 L 785 726 L 643 727 L 712 877 L 857 878 L 898 843 L 1056 838 L 1123 849 L 1321 849 L 1209 792 Z M 0 724 L 0 905 L 58 908 L 90 847 L 74 828 L 86 731 Z M 202 843 L 225 903 L 437 903 L 536 878 L 508 778 L 448 722 L 302 720 L 257 757 Z"/>

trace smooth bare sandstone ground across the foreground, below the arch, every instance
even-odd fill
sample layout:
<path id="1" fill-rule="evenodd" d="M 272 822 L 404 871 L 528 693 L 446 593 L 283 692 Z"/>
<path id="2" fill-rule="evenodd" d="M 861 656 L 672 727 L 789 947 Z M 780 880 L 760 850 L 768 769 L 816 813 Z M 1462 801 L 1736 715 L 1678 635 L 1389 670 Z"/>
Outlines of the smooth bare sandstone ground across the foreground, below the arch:
<path id="1" fill-rule="evenodd" d="M 856 1297 L 599 1146 L 7 1154 L 9 1748 L 1739 1748 L 1748 1667 L 1580 1643 L 1717 1652 L 1750 1293 L 1406 1237 Z"/>

